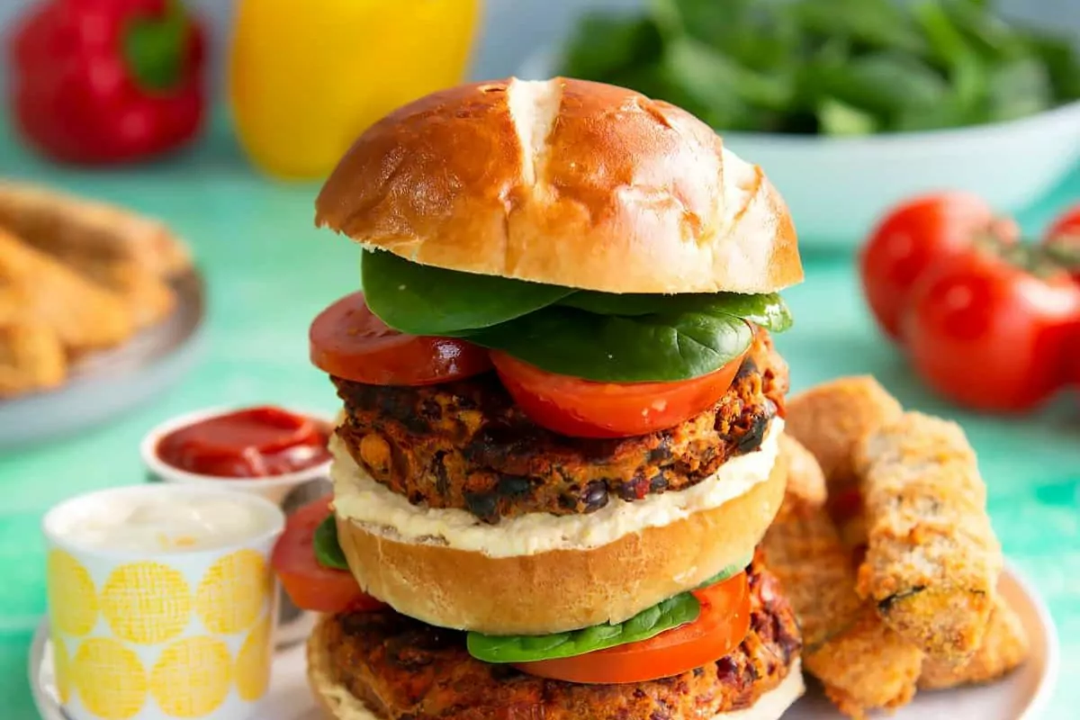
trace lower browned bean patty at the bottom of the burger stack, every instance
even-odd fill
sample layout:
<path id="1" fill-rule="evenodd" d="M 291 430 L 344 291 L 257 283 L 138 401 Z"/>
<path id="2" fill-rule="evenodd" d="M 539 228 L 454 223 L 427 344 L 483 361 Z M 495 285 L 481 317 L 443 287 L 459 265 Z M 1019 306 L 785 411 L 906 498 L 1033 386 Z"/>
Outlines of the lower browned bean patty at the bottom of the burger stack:
<path id="1" fill-rule="evenodd" d="M 335 681 L 387 720 L 674 720 L 753 706 L 800 650 L 795 616 L 759 559 L 748 569 L 751 630 L 731 654 L 672 678 L 589 685 L 489 665 L 464 634 L 393 611 L 339 614 L 320 630 Z"/>

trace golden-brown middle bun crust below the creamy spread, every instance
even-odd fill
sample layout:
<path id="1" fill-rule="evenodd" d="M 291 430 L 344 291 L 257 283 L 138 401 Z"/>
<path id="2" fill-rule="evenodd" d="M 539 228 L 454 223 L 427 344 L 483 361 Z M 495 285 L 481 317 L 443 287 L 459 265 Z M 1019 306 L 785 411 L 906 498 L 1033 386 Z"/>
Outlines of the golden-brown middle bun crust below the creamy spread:
<path id="1" fill-rule="evenodd" d="M 390 540 L 338 518 L 367 593 L 431 625 L 542 635 L 622 622 L 753 555 L 784 497 L 786 463 L 719 507 L 591 549 L 490 557 Z"/>

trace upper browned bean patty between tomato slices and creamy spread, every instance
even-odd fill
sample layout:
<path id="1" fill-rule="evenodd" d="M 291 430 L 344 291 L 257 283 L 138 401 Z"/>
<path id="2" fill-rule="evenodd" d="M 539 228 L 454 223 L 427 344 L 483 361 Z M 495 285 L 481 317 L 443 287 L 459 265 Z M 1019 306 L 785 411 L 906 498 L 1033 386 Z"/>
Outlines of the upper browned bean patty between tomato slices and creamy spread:
<path id="1" fill-rule="evenodd" d="M 414 504 L 485 522 L 592 513 L 684 490 L 756 450 L 782 412 L 787 367 L 760 330 L 727 394 L 681 424 L 638 437 L 571 438 L 534 424 L 495 373 L 420 388 L 333 378 L 348 420 L 338 435 L 372 477 Z"/>

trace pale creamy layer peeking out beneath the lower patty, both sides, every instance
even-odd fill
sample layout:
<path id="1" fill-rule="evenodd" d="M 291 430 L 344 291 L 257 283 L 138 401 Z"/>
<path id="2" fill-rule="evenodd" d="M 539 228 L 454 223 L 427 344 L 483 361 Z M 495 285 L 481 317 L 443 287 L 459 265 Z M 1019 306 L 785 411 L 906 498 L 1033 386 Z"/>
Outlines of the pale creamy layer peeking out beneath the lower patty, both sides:
<path id="1" fill-rule="evenodd" d="M 332 658 L 323 642 L 322 623 L 308 639 L 308 684 L 327 718 L 337 720 L 387 720 L 334 680 Z M 802 667 L 798 657 L 792 662 L 787 676 L 779 685 L 761 695 L 753 707 L 720 712 L 711 720 L 780 720 L 805 692 Z M 678 718 L 676 720 L 683 720 Z M 687 719 L 689 720 L 689 719 Z"/>

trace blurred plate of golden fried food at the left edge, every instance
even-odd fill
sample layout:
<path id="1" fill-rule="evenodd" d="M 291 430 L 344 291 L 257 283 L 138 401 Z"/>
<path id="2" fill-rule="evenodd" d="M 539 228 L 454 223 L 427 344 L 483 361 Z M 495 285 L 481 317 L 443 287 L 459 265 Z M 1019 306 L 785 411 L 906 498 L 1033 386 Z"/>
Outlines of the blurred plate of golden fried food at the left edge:
<path id="1" fill-rule="evenodd" d="M 0 447 L 91 425 L 179 379 L 204 302 L 163 223 L 0 180 Z"/>

